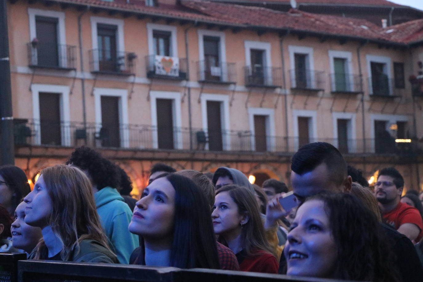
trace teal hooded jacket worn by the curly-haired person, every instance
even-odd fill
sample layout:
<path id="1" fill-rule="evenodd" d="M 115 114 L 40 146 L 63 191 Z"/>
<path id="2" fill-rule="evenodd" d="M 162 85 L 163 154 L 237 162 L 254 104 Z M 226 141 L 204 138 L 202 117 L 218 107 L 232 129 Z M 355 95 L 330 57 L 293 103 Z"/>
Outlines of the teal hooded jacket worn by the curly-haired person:
<path id="1" fill-rule="evenodd" d="M 139 246 L 138 236 L 128 230 L 132 211 L 118 190 L 112 187 L 104 187 L 96 192 L 94 199 L 110 248 L 120 263 L 128 264 L 132 252 Z"/>

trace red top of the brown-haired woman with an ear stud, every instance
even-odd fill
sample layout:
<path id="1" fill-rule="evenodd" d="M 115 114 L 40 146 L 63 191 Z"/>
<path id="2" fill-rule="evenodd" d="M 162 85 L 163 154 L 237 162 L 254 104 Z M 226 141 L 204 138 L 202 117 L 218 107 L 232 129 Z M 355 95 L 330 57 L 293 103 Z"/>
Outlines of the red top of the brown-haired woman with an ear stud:
<path id="1" fill-rule="evenodd" d="M 263 250 L 258 250 L 257 255 L 245 256 L 244 251 L 236 254 L 241 271 L 276 273 L 279 269 L 279 263 L 276 257 Z"/>

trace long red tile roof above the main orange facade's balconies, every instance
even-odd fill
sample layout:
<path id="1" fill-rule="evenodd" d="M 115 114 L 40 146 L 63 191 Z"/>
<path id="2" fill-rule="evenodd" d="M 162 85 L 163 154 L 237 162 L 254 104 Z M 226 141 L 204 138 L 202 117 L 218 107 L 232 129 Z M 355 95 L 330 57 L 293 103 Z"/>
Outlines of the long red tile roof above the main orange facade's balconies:
<path id="1" fill-rule="evenodd" d="M 209 2 L 205 0 L 181 0 L 178 5 L 148 7 L 143 0 L 57 0 L 64 3 L 90 5 L 91 8 L 118 9 L 121 11 L 165 16 L 176 19 L 198 20 L 199 22 L 253 28 L 258 30 L 277 29 L 294 32 L 317 33 L 349 38 L 365 38 L 372 41 L 396 40 L 386 30 L 364 19 L 311 14 L 291 9 L 289 12 L 267 8 Z M 376 1 L 376 0 L 368 0 Z M 379 0 L 381 1 L 381 0 Z"/>

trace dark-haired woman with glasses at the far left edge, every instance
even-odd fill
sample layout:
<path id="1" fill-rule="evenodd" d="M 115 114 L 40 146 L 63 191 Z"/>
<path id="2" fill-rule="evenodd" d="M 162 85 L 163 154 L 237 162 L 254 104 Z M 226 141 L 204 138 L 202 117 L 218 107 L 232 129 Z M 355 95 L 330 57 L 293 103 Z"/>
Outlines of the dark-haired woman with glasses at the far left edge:
<path id="1" fill-rule="evenodd" d="M 14 165 L 0 167 L 0 204 L 10 216 L 21 202 L 22 198 L 31 192 L 25 172 Z"/>

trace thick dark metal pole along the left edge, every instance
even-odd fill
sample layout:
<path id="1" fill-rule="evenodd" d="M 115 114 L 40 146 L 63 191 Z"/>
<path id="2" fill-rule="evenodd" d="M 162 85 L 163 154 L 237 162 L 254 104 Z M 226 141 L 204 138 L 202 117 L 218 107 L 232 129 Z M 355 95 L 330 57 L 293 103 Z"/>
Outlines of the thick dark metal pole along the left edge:
<path id="1" fill-rule="evenodd" d="M 15 163 L 6 2 L 0 4 L 0 165 Z"/>

